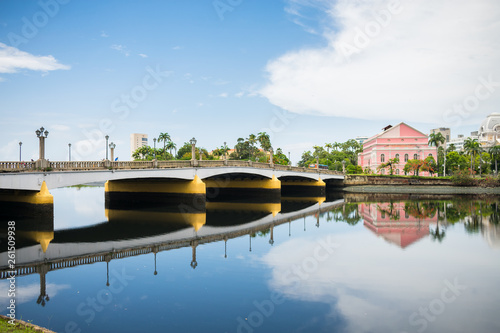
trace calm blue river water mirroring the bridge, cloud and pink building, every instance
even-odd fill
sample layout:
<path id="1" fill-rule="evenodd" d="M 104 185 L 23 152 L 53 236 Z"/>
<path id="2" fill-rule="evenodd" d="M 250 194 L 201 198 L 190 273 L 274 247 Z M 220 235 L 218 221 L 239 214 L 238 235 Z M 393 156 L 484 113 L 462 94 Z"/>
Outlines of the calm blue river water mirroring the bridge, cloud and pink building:
<path id="1" fill-rule="evenodd" d="M 51 193 L 53 214 L 2 223 L 16 221 L 16 317 L 56 332 L 500 332 L 498 198 L 175 213 L 105 209 L 103 187 Z"/>

